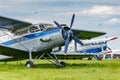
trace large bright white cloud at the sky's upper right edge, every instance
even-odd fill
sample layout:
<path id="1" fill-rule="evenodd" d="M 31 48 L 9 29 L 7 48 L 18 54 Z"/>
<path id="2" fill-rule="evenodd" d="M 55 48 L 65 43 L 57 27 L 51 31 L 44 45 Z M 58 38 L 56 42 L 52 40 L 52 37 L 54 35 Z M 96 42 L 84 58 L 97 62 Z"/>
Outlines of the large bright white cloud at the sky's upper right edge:
<path id="1" fill-rule="evenodd" d="M 90 9 L 79 12 L 84 15 L 120 15 L 120 6 L 93 6 Z"/>

